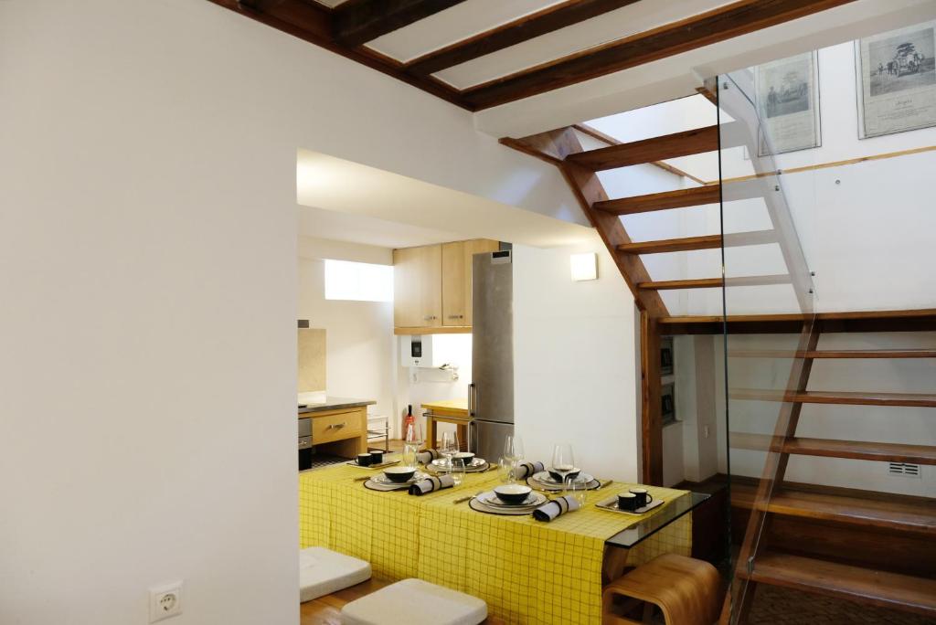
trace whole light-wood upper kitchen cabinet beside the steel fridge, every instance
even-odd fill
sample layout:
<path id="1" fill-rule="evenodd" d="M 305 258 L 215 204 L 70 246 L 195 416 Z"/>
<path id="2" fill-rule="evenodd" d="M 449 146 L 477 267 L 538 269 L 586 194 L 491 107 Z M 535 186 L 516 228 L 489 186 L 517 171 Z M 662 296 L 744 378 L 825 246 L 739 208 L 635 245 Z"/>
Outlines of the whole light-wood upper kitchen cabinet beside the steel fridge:
<path id="1" fill-rule="evenodd" d="M 464 240 L 393 251 L 397 334 L 470 332 L 472 256 L 496 240 Z"/>

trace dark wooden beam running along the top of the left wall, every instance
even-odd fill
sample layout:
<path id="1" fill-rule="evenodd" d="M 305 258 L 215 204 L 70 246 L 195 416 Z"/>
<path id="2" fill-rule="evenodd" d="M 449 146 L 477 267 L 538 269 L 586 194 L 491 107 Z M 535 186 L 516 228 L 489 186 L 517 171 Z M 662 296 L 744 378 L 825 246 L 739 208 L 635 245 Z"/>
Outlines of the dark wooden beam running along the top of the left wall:
<path id="1" fill-rule="evenodd" d="M 209 0 L 220 7 L 229 8 L 257 22 L 262 22 L 289 35 L 299 37 L 345 58 L 367 65 L 372 69 L 402 80 L 425 92 L 440 97 L 462 109 L 470 109 L 459 92 L 431 77 L 411 76 L 402 71 L 402 65 L 383 54 L 364 48 L 352 49 L 332 36 L 334 11 L 311 0 Z"/>

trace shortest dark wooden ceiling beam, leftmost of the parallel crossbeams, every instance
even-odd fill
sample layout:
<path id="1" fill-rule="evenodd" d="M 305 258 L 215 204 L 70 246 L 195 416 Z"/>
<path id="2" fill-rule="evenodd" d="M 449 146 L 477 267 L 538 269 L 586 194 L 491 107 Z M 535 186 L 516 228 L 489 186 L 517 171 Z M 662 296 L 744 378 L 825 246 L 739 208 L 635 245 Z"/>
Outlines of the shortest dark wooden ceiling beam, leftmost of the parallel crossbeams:
<path id="1" fill-rule="evenodd" d="M 352 48 L 464 0 L 348 0 L 334 8 L 334 36 Z"/>

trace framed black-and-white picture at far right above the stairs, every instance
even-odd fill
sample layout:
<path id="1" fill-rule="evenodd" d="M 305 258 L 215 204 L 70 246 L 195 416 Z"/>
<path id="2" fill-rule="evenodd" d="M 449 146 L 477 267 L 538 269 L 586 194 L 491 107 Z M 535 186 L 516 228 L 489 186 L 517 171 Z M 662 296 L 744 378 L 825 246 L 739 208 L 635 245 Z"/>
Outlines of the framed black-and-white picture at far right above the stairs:
<path id="1" fill-rule="evenodd" d="M 858 135 L 936 125 L 936 22 L 856 42 Z"/>

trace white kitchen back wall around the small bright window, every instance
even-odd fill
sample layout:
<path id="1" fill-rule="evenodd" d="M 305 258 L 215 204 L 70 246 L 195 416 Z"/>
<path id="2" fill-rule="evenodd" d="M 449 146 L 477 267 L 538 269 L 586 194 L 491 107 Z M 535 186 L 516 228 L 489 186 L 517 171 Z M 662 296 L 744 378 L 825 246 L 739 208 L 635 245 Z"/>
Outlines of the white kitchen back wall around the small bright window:
<path id="1" fill-rule="evenodd" d="M 392 263 L 392 250 L 341 241 L 300 239 L 300 319 L 326 332 L 326 378 L 329 395 L 375 400 L 371 414 L 394 413 L 395 363 L 392 301 L 325 298 L 324 258 Z"/>

